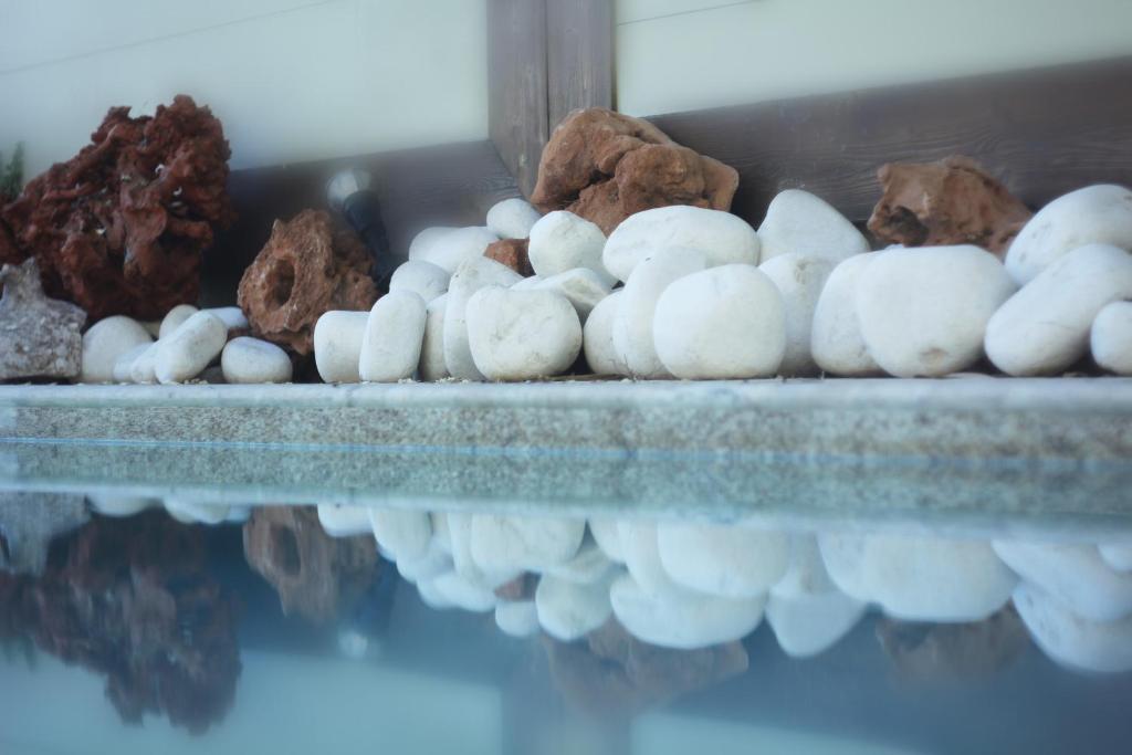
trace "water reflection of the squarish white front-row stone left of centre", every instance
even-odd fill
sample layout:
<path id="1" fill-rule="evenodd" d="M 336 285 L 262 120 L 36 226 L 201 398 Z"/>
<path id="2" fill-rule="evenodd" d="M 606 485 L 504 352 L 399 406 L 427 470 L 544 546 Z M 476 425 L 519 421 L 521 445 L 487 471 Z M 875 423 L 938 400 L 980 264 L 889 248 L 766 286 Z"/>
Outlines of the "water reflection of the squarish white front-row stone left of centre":
<path id="1" fill-rule="evenodd" d="M 569 561 L 585 520 L 473 514 L 472 560 L 484 572 L 543 572 Z"/>

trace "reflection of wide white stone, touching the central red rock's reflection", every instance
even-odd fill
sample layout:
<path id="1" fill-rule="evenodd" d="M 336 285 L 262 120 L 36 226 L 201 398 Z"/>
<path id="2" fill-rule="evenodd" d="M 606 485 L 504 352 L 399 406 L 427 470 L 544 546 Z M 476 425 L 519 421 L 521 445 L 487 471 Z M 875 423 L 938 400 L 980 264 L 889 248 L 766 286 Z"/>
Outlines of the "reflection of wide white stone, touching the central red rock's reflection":
<path id="1" fill-rule="evenodd" d="M 741 640 L 763 618 L 765 598 L 731 600 L 692 591 L 651 591 L 624 575 L 609 590 L 614 615 L 637 640 L 695 650 Z"/>

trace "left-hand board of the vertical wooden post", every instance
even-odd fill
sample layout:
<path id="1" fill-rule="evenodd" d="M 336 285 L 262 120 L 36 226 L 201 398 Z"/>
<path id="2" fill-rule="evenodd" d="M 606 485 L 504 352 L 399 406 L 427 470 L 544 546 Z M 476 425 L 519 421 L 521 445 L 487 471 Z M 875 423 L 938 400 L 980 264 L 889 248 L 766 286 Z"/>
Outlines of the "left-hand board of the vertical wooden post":
<path id="1" fill-rule="evenodd" d="M 544 0 L 488 0 L 488 125 L 525 196 L 549 134 Z"/>

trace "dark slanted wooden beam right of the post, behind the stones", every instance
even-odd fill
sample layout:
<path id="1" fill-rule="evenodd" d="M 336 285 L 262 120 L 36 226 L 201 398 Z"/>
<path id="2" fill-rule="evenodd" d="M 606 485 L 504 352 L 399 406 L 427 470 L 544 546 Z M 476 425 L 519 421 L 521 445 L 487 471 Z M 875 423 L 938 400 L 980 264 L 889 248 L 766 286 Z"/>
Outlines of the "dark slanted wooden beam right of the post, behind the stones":
<path id="1" fill-rule="evenodd" d="M 739 171 L 732 212 L 755 225 L 804 188 L 864 221 L 876 169 L 951 154 L 978 160 L 1022 201 L 1132 185 L 1132 58 L 651 117 Z"/>

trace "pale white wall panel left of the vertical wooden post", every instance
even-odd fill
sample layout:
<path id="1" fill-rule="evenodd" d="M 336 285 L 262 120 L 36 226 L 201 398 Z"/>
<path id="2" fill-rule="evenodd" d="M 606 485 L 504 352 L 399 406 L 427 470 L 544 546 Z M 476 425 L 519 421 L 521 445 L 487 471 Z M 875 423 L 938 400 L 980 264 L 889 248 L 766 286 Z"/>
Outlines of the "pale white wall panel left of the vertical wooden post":
<path id="1" fill-rule="evenodd" d="M 0 151 L 27 175 L 182 92 L 234 168 L 484 139 L 486 0 L 0 0 Z"/>

